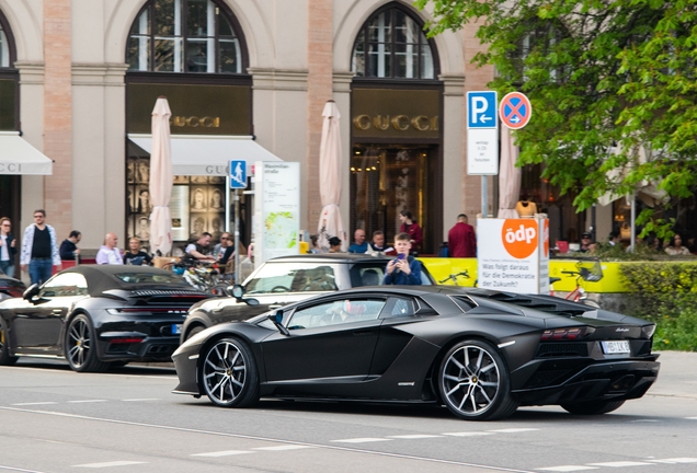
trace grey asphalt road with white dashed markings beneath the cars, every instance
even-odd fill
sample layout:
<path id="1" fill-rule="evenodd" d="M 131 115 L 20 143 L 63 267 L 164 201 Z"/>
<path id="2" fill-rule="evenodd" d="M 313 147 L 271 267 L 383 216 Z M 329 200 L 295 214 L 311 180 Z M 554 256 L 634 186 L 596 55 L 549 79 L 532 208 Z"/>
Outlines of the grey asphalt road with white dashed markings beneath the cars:
<path id="1" fill-rule="evenodd" d="M 171 394 L 169 368 L 0 367 L 0 472 L 697 471 L 697 354 L 664 353 L 649 394 L 604 416 L 521 408 L 468 423 L 445 408 Z"/>

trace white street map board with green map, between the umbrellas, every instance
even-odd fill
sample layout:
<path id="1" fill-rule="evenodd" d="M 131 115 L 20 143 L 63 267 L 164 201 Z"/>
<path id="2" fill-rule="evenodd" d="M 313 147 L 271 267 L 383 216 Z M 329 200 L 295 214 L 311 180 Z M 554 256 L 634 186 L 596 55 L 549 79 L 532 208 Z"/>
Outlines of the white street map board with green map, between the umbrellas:
<path id="1" fill-rule="evenodd" d="M 254 265 L 298 254 L 300 163 L 258 162 L 254 197 Z"/>

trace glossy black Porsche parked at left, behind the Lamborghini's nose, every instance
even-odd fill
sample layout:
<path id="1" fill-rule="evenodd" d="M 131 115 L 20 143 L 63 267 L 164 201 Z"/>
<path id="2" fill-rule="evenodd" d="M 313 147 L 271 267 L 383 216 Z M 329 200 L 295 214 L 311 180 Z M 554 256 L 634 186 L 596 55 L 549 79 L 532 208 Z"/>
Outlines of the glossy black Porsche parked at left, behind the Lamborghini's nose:
<path id="1" fill-rule="evenodd" d="M 55 357 L 76 371 L 103 371 L 170 361 L 188 308 L 207 297 L 164 269 L 69 268 L 0 303 L 0 365 Z"/>

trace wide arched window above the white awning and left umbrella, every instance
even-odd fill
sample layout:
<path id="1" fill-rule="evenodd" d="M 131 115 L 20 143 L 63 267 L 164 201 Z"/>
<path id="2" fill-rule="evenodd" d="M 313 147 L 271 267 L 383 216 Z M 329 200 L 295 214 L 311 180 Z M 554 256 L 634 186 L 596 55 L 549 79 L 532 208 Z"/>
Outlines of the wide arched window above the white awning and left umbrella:
<path id="1" fill-rule="evenodd" d="M 245 73 L 239 26 L 214 0 L 150 0 L 130 27 L 129 70 Z"/>

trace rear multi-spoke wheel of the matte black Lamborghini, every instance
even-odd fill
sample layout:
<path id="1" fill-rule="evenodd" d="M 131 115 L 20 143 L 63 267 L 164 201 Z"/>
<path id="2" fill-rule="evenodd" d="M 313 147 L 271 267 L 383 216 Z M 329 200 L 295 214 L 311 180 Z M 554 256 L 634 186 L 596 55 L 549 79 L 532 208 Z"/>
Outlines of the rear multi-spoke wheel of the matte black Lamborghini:
<path id="1" fill-rule="evenodd" d="M 448 409 L 464 419 L 503 418 L 517 408 L 503 359 L 484 342 L 465 341 L 450 348 L 441 365 L 438 388 Z"/>

